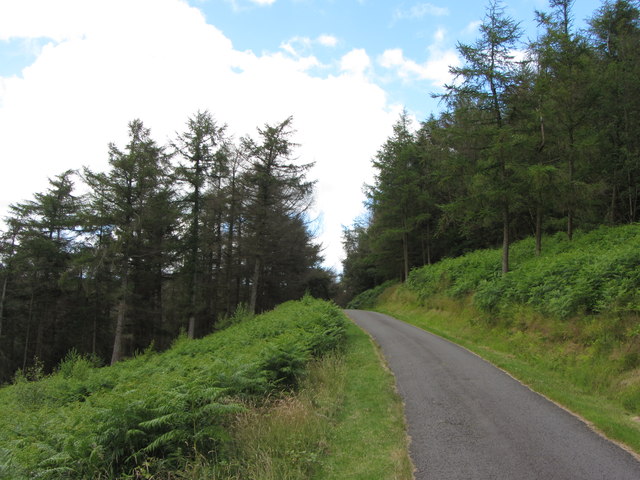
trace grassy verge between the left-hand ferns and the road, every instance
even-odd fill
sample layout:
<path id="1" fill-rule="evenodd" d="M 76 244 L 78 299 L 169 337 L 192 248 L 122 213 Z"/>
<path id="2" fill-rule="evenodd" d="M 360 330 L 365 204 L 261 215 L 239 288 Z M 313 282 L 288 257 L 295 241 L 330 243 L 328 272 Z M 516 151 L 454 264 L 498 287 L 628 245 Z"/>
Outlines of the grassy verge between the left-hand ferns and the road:
<path id="1" fill-rule="evenodd" d="M 404 413 L 369 337 L 347 326 L 345 348 L 315 362 L 300 390 L 251 406 L 231 428 L 231 459 L 184 478 L 410 480 Z"/>

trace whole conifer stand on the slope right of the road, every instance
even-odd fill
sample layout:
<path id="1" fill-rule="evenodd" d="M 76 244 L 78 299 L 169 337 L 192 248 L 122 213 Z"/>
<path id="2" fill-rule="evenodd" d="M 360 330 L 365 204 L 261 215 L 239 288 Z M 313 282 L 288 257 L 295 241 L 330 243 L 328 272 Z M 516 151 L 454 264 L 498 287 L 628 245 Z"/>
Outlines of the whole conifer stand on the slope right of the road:
<path id="1" fill-rule="evenodd" d="M 368 216 L 344 232 L 354 295 L 417 266 L 543 233 L 639 220 L 640 3 L 606 1 L 578 30 L 573 0 L 538 37 L 493 0 L 464 64 L 417 131 L 403 113 L 373 160 Z"/>

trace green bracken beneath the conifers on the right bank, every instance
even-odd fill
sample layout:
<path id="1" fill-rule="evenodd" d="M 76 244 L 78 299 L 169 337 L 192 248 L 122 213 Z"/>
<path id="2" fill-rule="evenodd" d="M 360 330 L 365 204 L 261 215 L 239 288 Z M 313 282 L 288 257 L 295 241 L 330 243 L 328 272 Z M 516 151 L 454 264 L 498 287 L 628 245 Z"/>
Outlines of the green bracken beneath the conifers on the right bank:
<path id="1" fill-rule="evenodd" d="M 601 227 L 569 242 L 545 238 L 534 255 L 531 239 L 511 247 L 512 271 L 500 272 L 500 250 L 480 250 L 411 272 L 407 286 L 421 298 L 473 294 L 482 311 L 514 305 L 565 319 L 579 313 L 640 311 L 640 225 Z"/>

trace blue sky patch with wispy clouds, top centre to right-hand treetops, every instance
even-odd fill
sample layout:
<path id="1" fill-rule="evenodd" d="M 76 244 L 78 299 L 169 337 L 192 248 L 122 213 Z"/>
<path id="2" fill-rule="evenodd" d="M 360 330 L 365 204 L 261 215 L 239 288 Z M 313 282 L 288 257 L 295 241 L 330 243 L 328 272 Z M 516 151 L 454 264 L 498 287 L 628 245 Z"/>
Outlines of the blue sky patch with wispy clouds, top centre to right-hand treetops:
<path id="1" fill-rule="evenodd" d="M 398 78 L 375 61 L 385 51 L 401 49 L 405 59 L 423 66 L 433 57 L 434 48 L 448 51 L 456 42 L 472 43 L 487 6 L 487 2 L 473 0 L 191 0 L 190 4 L 201 8 L 235 48 L 277 51 L 291 42 L 301 53 L 312 53 L 323 64 L 314 71 L 319 76 L 332 73 L 331 66 L 351 49 L 365 49 L 374 61 L 372 74 L 391 101 L 405 105 L 418 119 L 438 110 L 429 94 L 440 91 L 439 84 L 415 74 Z M 535 38 L 534 11 L 547 10 L 547 1 L 510 0 L 504 5 L 506 13 L 521 22 L 523 40 Z M 584 20 L 599 5 L 595 0 L 577 0 L 573 6 L 576 27 L 584 27 Z M 323 35 L 333 38 L 335 47 L 318 43 Z M 302 45 L 295 39 L 312 42 Z"/>

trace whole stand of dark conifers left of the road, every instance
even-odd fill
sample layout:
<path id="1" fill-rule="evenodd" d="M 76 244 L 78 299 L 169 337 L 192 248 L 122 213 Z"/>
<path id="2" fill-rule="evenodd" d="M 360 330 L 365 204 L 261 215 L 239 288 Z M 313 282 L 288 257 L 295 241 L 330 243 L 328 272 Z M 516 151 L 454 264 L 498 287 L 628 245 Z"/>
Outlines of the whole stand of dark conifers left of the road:
<path id="1" fill-rule="evenodd" d="M 108 171 L 64 172 L 12 205 L 0 382 L 50 370 L 71 349 L 115 363 L 182 329 L 203 336 L 239 307 L 327 297 L 333 279 L 306 215 L 311 164 L 295 160 L 292 133 L 289 118 L 233 141 L 198 112 L 161 146 L 134 120 L 128 143 L 109 145 Z"/>

